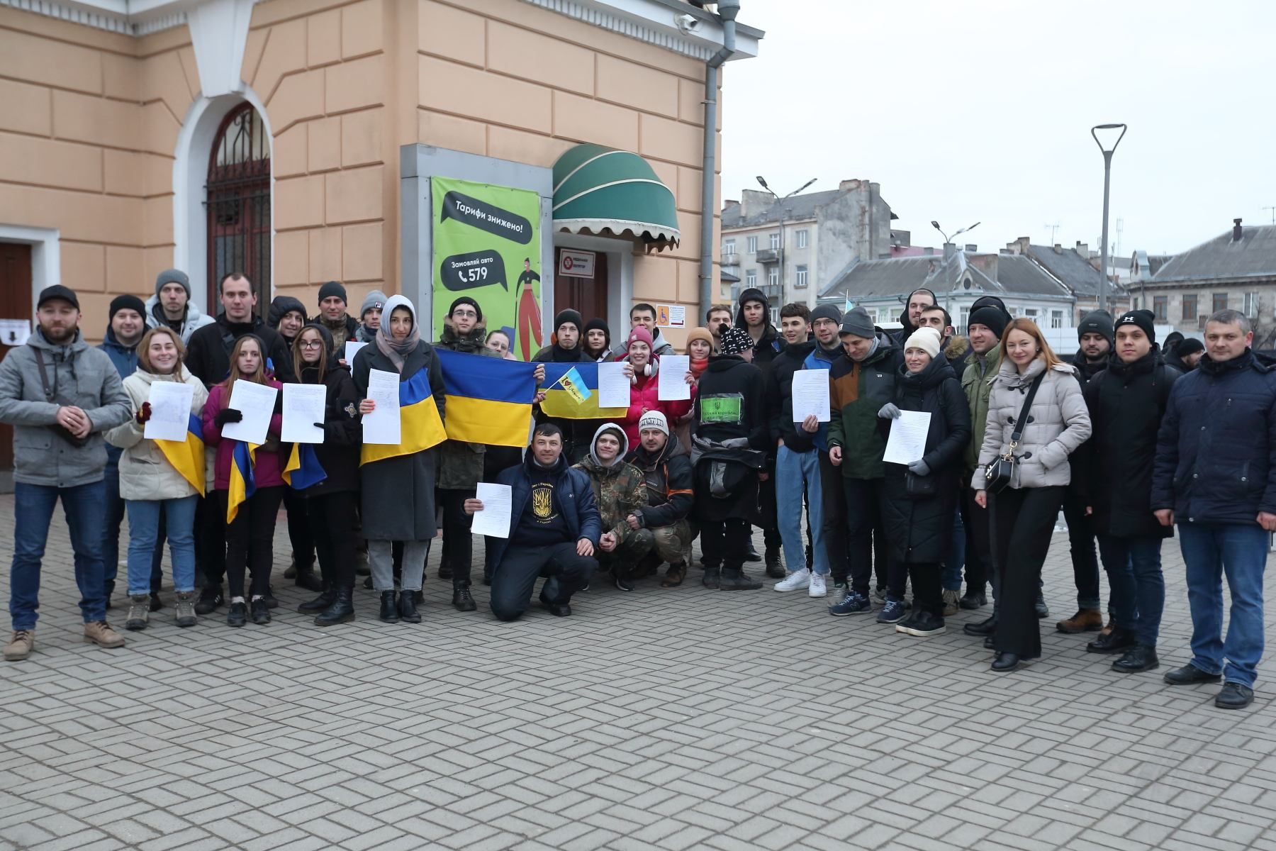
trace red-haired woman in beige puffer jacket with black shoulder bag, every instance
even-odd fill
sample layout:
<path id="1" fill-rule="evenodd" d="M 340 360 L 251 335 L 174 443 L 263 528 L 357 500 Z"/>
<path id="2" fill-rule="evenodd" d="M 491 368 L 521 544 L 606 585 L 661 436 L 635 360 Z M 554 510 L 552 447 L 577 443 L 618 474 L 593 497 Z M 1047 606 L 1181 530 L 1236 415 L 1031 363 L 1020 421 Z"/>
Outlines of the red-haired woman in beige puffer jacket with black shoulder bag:
<path id="1" fill-rule="evenodd" d="M 991 510 L 993 563 L 1000 577 L 993 670 L 1013 671 L 1041 656 L 1035 611 L 1041 564 L 1072 482 L 1068 457 L 1090 438 L 1091 427 L 1076 369 L 1055 357 L 1035 322 L 1016 319 L 1005 325 L 1002 352 L 970 486 L 975 501 Z M 1005 454 L 1013 458 L 1014 472 L 1005 487 L 990 494 L 988 466 Z"/>

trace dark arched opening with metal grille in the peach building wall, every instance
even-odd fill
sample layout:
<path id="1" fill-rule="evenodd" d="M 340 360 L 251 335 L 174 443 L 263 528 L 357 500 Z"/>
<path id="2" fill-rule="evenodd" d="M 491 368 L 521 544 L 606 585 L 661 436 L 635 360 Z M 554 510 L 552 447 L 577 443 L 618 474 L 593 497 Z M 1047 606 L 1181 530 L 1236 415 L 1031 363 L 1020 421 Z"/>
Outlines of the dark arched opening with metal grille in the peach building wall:
<path id="1" fill-rule="evenodd" d="M 271 305 L 271 140 L 251 103 L 231 110 L 208 158 L 208 304 L 221 311 L 217 287 L 242 272 L 256 292 L 256 311 Z"/>

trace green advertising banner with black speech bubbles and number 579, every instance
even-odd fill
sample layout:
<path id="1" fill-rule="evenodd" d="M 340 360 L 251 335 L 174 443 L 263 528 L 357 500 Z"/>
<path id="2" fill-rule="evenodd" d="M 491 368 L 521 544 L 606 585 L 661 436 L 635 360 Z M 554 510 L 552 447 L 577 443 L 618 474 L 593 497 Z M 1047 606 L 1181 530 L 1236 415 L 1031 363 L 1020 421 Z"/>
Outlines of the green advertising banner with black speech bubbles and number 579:
<path id="1" fill-rule="evenodd" d="M 535 191 L 430 179 L 434 199 L 434 339 L 458 296 L 482 307 L 487 330 L 512 332 L 531 360 L 541 347 L 541 199 Z"/>

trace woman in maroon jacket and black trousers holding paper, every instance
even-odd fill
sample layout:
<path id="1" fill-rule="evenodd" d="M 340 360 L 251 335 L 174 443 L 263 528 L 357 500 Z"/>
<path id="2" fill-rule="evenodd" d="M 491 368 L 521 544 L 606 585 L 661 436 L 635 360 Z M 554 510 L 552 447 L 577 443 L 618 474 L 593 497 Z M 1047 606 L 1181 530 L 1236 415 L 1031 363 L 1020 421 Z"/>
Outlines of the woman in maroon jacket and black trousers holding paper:
<path id="1" fill-rule="evenodd" d="M 235 449 L 239 440 L 222 438 L 222 427 L 244 420 L 244 412 L 230 407 L 235 383 L 251 381 L 282 388 L 265 371 L 265 346 L 256 334 L 244 334 L 235 341 L 231 350 L 231 371 L 226 380 L 214 384 L 208 392 L 204 404 L 204 444 L 216 448 L 217 459 L 213 464 L 213 489 L 217 491 L 217 504 L 223 514 L 230 505 L 231 467 L 235 462 Z M 242 626 L 248 620 L 249 609 L 254 624 L 271 623 L 271 607 L 267 595 L 271 591 L 271 566 L 274 560 L 274 521 L 283 500 L 283 463 L 279 458 L 279 431 L 283 427 L 282 397 L 276 394 L 274 412 L 267 426 L 265 443 L 260 444 L 251 464 L 253 481 L 256 489 L 239 504 L 235 519 L 226 524 L 226 579 L 230 584 L 230 611 L 226 615 L 228 626 Z M 242 473 L 236 470 L 236 477 Z M 244 597 L 244 572 L 253 575 L 251 597 Z M 251 606 L 249 605 L 251 603 Z"/>

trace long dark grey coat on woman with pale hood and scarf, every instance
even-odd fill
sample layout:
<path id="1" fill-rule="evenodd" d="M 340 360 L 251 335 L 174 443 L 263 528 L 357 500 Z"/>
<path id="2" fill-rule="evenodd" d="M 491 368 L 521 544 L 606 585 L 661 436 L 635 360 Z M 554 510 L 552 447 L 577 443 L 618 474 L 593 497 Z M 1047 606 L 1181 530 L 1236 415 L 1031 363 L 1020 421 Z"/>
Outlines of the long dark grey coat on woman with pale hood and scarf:
<path id="1" fill-rule="evenodd" d="M 351 369 L 360 398 L 367 396 L 367 375 L 379 369 L 396 373 L 394 364 L 376 343 L 365 346 L 355 355 Z M 434 347 L 424 339 L 403 359 L 399 381 L 407 381 L 425 370 L 430 379 L 430 393 L 439 408 L 439 418 L 445 413 L 447 399 L 443 389 L 443 366 Z M 447 420 L 443 420 L 447 422 Z M 438 470 L 438 447 L 411 455 L 396 455 L 364 464 L 359 468 L 364 537 L 369 541 L 429 541 L 438 526 L 434 518 L 434 486 Z"/>

